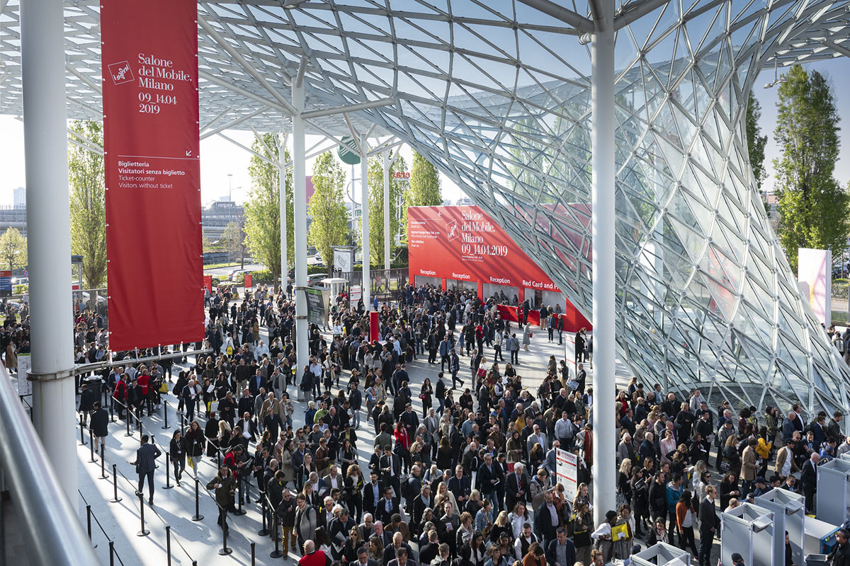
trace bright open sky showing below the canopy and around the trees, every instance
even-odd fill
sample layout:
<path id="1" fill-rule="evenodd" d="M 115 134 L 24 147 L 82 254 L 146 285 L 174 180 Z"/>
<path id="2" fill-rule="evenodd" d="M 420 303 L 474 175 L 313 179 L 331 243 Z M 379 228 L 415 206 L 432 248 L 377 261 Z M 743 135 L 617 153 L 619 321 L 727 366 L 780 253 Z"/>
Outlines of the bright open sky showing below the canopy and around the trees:
<path id="1" fill-rule="evenodd" d="M 808 69 L 816 69 L 830 80 L 836 97 L 838 114 L 842 118 L 850 116 L 850 59 L 840 58 L 830 61 L 809 64 Z M 763 85 L 774 80 L 774 70 L 765 70 L 756 81 L 755 94 L 762 104 L 762 133 L 768 135 L 768 146 L 765 151 L 768 179 L 763 188 L 773 188 L 774 158 L 779 156 L 779 150 L 774 143 L 774 128 L 776 125 L 776 100 L 778 87 L 764 88 Z M 842 126 L 842 124 L 840 124 Z M 850 126 L 846 126 L 850 130 Z M 843 132 L 840 132 L 840 135 Z M 251 132 L 230 132 L 236 141 L 250 145 Z M 307 146 L 319 140 L 318 137 L 307 140 Z M 842 136 L 842 149 L 836 164 L 836 178 L 843 186 L 850 182 L 850 139 Z M 411 163 L 409 149 L 402 155 Z M 228 193 L 228 173 L 232 173 L 232 186 L 235 188 L 233 197 L 237 201 L 245 199 L 250 185 L 247 177 L 247 167 L 250 154 L 236 148 L 220 137 L 208 137 L 201 142 L 201 195 L 204 202 L 218 199 Z M 308 163 L 310 171 L 312 163 Z M 355 168 L 359 174 L 359 168 Z M 348 171 L 348 168 L 346 169 Z M 0 116 L 0 205 L 11 205 L 14 188 L 26 185 L 24 175 L 23 126 L 20 120 L 12 116 Z M 448 199 L 458 199 L 462 196 L 460 189 L 444 178 L 444 196 Z"/>

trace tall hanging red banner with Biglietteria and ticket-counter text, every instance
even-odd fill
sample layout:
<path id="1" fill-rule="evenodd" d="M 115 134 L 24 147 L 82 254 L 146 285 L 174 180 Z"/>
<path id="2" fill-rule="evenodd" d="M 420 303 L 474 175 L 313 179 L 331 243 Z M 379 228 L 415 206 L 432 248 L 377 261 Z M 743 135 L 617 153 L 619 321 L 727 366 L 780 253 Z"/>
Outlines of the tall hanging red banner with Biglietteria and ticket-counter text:
<path id="1" fill-rule="evenodd" d="M 197 3 L 103 0 L 110 348 L 204 336 Z"/>

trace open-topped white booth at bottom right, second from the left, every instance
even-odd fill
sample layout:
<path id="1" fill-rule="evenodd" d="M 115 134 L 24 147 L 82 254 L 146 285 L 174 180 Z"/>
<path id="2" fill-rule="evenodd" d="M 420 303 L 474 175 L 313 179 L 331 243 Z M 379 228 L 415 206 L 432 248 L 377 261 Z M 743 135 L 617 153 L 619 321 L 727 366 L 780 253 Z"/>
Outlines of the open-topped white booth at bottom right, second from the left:
<path id="1" fill-rule="evenodd" d="M 742 503 L 720 514 L 720 562 L 732 566 L 732 553 L 740 552 L 747 566 L 784 566 L 774 560 L 774 512 Z M 785 539 L 783 533 L 782 539 Z"/>

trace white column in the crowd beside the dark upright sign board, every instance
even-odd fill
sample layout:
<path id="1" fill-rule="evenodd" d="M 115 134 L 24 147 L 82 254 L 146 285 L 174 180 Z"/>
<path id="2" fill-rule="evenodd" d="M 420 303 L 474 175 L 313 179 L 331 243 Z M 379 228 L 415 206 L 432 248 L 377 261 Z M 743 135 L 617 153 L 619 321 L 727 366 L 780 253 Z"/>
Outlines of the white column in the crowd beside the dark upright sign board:
<path id="1" fill-rule="evenodd" d="M 297 358 L 296 378 L 309 365 L 307 345 L 307 173 L 304 162 L 304 87 L 292 83 L 292 105 L 296 112 L 292 116 L 292 212 L 295 238 L 295 355 Z"/>

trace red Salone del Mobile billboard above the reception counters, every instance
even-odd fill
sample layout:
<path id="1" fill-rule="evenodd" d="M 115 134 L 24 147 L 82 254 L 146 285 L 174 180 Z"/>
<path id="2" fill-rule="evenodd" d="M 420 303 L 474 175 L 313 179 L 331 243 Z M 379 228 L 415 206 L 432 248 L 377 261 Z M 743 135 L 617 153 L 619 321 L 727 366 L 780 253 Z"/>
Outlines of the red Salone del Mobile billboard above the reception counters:
<path id="1" fill-rule="evenodd" d="M 411 277 L 560 292 L 478 206 L 411 206 L 407 227 Z"/>

